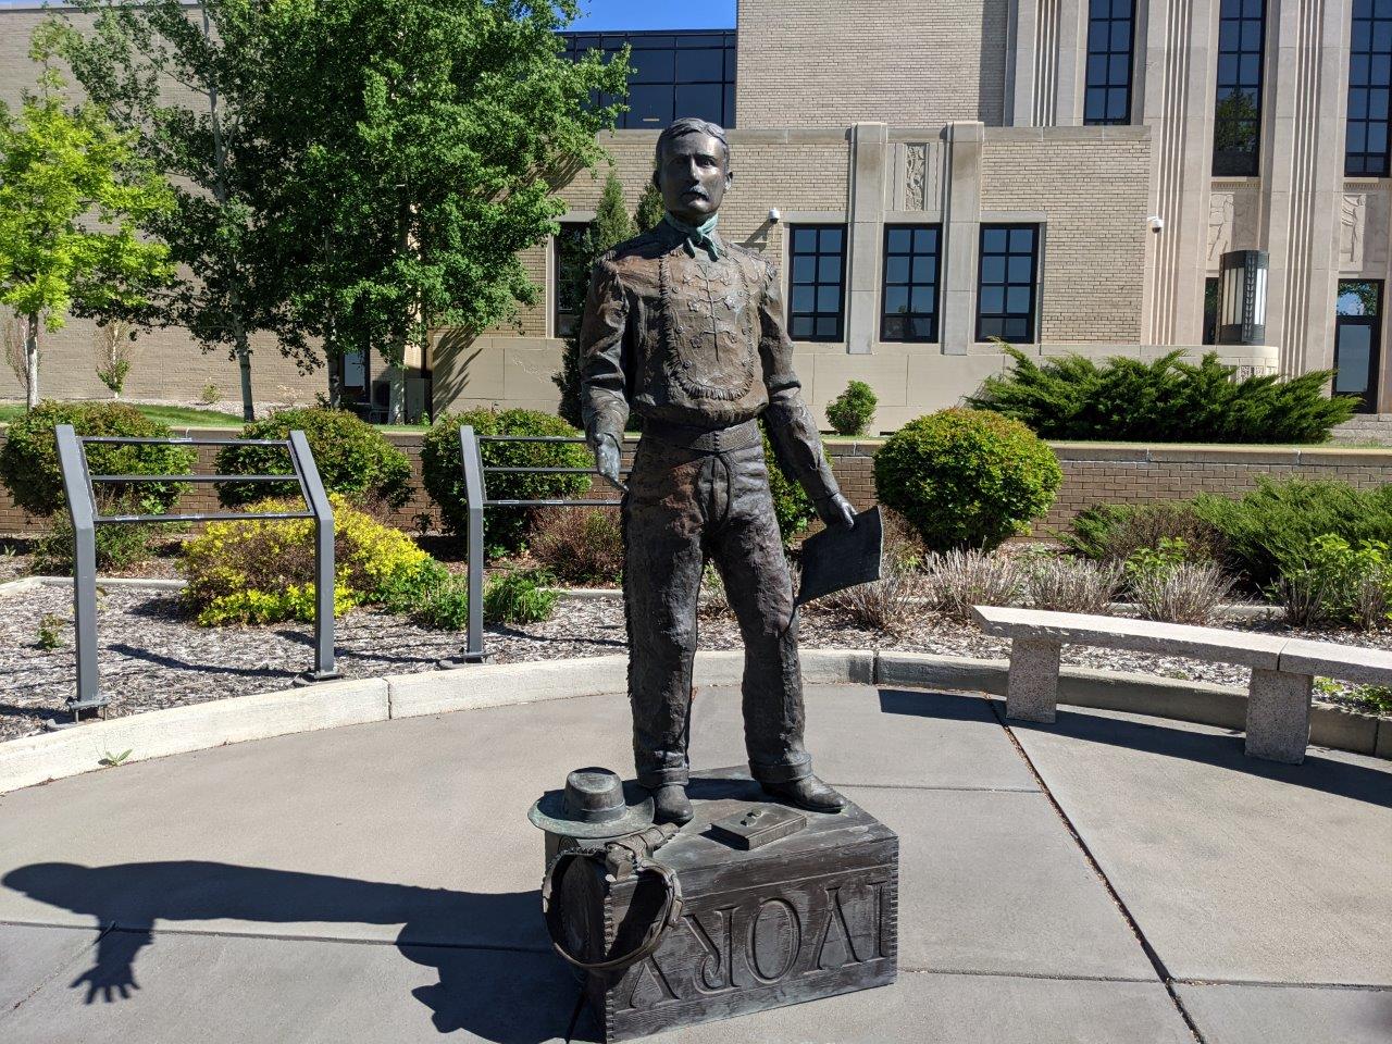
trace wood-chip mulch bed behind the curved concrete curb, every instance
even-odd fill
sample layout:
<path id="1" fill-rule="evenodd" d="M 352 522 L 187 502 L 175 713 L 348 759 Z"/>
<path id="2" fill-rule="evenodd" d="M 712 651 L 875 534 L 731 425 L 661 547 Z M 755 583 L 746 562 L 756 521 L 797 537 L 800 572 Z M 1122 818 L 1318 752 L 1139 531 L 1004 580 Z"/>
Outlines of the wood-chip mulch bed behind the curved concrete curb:
<path id="1" fill-rule="evenodd" d="M 181 707 L 205 700 L 288 688 L 313 657 L 313 626 L 277 624 L 199 628 L 177 592 L 109 587 L 99 597 L 97 663 L 110 715 Z M 38 646 L 40 622 L 56 617 L 60 644 Z M 39 587 L 0 603 L 0 741 L 31 735 L 47 720 L 67 720 L 74 690 L 72 594 Z M 1392 649 L 1392 633 L 1293 631 L 1276 621 L 1233 619 L 1228 626 L 1317 640 Z M 702 649 L 739 649 L 732 618 L 703 618 Z M 901 633 L 855 626 L 828 610 L 809 607 L 802 621 L 806 649 L 880 649 L 1004 660 L 1006 642 L 933 612 L 919 614 Z M 355 611 L 338 621 L 338 665 L 348 678 L 436 670 L 459 651 L 462 636 L 425 631 L 402 617 Z M 489 626 L 486 646 L 498 663 L 624 653 L 624 608 L 617 599 L 562 600 L 553 619 L 526 626 Z M 1063 661 L 1112 671 L 1139 671 L 1222 685 L 1246 685 L 1247 670 L 1182 657 L 1108 649 L 1066 647 Z M 1338 700 L 1338 697 L 1335 697 Z M 1340 700 L 1342 702 L 1342 700 Z"/>

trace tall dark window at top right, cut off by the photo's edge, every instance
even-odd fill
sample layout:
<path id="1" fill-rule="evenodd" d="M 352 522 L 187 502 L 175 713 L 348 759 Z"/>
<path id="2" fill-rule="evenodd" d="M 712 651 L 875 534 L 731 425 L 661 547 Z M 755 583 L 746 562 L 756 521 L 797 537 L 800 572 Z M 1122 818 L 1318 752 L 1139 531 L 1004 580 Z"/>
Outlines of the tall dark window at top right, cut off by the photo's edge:
<path id="1" fill-rule="evenodd" d="M 1353 0 L 1349 38 L 1349 129 L 1343 173 L 1385 178 L 1392 93 L 1392 0 Z"/>

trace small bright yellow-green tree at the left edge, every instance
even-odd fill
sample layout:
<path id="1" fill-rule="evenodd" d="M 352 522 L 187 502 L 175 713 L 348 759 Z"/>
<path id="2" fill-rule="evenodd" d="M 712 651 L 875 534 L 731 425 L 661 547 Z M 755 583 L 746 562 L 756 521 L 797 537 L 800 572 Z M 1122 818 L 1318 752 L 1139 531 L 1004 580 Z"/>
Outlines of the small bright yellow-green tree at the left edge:
<path id="1" fill-rule="evenodd" d="M 56 36 L 33 35 L 38 92 L 0 106 L 0 303 L 22 322 L 26 404 L 39 402 L 39 333 L 67 315 L 139 308 L 173 276 L 168 249 L 136 234 L 170 206 L 168 188 L 90 103 L 65 107 Z"/>

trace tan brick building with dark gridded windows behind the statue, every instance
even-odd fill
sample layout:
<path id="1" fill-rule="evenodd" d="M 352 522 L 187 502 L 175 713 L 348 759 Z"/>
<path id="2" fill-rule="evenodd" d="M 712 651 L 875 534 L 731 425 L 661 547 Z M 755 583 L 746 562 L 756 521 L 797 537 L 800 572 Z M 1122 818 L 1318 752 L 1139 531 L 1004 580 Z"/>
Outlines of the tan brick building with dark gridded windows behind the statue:
<path id="1" fill-rule="evenodd" d="M 1222 358 L 1256 372 L 1338 362 L 1342 390 L 1367 381 L 1368 408 L 1389 409 L 1384 7 L 741 0 L 734 33 L 633 35 L 633 111 L 604 145 L 632 207 L 672 114 L 731 128 L 721 232 L 784 273 L 814 408 L 862 379 L 880 395 L 876 426 L 896 427 L 976 391 L 1005 362 L 1002 335 L 1036 354 L 1140 358 L 1221 340 Z M 32 78 L 36 17 L 0 11 L 6 99 Z M 601 178 L 560 189 L 567 223 L 593 214 Z M 555 256 L 553 244 L 526 255 L 543 305 L 434 338 L 415 370 L 434 411 L 554 408 Z M 1219 287 L 1225 258 L 1235 277 Z M 1235 315 L 1214 315 L 1221 294 Z M 74 324 L 50 338 L 50 391 L 102 391 L 89 337 Z M 231 363 L 177 337 L 152 340 L 152 355 L 136 397 L 235 387 Z M 255 370 L 267 401 L 323 387 L 271 345 Z M 0 397 L 15 394 L 0 373 Z"/>

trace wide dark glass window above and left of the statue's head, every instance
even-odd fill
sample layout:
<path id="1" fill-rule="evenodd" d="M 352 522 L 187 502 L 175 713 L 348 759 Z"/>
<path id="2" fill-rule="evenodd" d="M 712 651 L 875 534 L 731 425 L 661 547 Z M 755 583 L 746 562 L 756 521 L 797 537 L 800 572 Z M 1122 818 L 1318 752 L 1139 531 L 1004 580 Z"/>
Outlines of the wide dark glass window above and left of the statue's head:
<path id="1" fill-rule="evenodd" d="M 619 127 L 665 127 L 682 116 L 721 127 L 735 125 L 734 32 L 574 32 L 562 36 L 569 58 L 601 50 L 608 60 L 625 45 L 632 47 L 629 109 L 618 117 Z M 614 97 L 597 97 L 594 103 L 612 104 Z"/>

